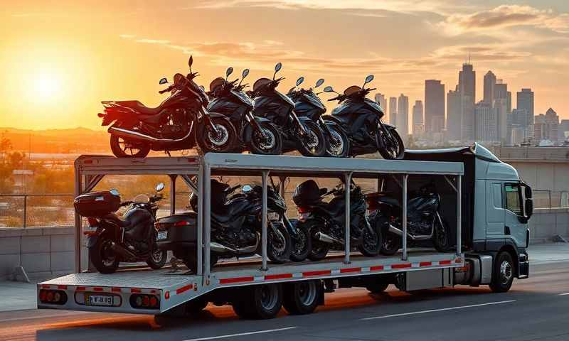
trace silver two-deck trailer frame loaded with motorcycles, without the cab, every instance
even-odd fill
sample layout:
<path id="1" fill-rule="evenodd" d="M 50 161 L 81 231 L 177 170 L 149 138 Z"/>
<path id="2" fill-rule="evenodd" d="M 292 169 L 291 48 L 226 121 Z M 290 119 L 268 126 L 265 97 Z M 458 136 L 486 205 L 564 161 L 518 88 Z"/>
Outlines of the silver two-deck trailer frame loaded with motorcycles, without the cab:
<path id="1" fill-rule="evenodd" d="M 472 153 L 475 155 L 474 150 Z M 496 262 L 493 262 L 496 256 L 486 250 L 478 251 L 472 247 L 472 242 L 464 243 L 464 240 L 472 240 L 472 236 L 463 238 L 462 235 L 469 230 L 462 224 L 465 220 L 472 220 L 472 217 L 462 217 L 464 164 L 221 153 L 208 153 L 203 157 L 144 159 L 81 156 L 75 161 L 77 195 L 95 188 L 104 175 L 167 174 L 172 180 L 170 199 L 171 213 L 174 213 L 175 180 L 180 176 L 198 194 L 197 271 L 196 274 L 173 269 L 121 270 L 115 274 L 83 272 L 87 262 L 82 259 L 80 252 L 81 217 L 76 216 L 76 273 L 38 283 L 38 308 L 157 315 L 169 311 L 200 310 L 206 303 L 213 302 L 232 304 L 240 316 L 270 318 L 277 314 L 282 303 L 289 313 L 311 313 L 317 305 L 324 303 L 324 281 L 337 281 L 339 287 L 364 286 L 371 291 L 383 291 L 389 283 L 395 283 L 400 290 L 413 291 L 455 284 L 478 286 L 498 281 L 496 276 L 499 277 L 499 273 L 495 274 Z M 254 175 L 262 179 L 264 205 L 260 261 L 210 266 L 209 186 L 211 176 L 218 175 Z M 445 207 L 448 216 L 454 217 L 454 221 L 447 223 L 454 230 L 455 248 L 449 252 L 410 249 L 407 239 L 403 238 L 398 254 L 363 257 L 353 253 L 349 244 L 350 231 L 345 228 L 346 244 L 341 256 L 329 256 L 322 261 L 269 264 L 266 214 L 269 176 L 281 178 L 281 183 L 284 178 L 293 176 L 341 178 L 344 183 L 350 183 L 351 178 L 372 178 L 377 180 L 378 190 L 397 183 L 403 203 L 403 234 L 407 229 L 409 178 L 442 178 L 454 191 L 454 195 L 447 195 L 447 198 L 456 205 L 447 204 Z M 388 182 L 388 178 L 393 182 Z M 346 191 L 346 202 L 349 202 L 349 191 Z M 346 227 L 349 226 L 349 219 L 349 214 L 346 214 Z M 468 250 L 467 254 L 463 253 L 463 245 Z M 522 278 L 524 274 L 521 274 L 521 269 L 526 269 L 526 265 L 521 264 L 524 261 L 527 264 L 527 258 L 517 254 L 514 256 L 510 259 L 509 275 Z M 518 260 L 519 264 L 514 264 L 512 259 Z"/>

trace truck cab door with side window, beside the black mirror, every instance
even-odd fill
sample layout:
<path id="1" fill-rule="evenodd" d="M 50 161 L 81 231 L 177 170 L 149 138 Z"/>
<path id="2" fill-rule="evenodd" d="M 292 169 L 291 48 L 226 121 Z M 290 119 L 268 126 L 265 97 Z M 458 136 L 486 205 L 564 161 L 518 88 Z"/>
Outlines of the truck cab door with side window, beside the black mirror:
<path id="1" fill-rule="evenodd" d="M 514 239 L 516 246 L 526 246 L 526 224 L 523 220 L 521 185 L 504 183 L 504 234 Z"/>

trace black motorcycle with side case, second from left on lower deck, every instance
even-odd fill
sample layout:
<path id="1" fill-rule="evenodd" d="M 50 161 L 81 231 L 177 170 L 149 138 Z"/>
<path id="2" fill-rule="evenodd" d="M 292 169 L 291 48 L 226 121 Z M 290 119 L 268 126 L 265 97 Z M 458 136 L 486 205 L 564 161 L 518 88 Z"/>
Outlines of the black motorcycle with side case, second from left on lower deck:
<path id="1" fill-rule="evenodd" d="M 243 186 L 242 193 L 231 195 L 240 185 L 230 188 L 211 180 L 211 266 L 218 259 L 261 254 L 262 188 Z M 231 196 L 230 196 L 231 195 Z M 267 193 L 267 256 L 276 264 L 285 263 L 291 254 L 289 232 L 281 222 L 285 200 L 275 191 Z M 192 194 L 193 212 L 160 218 L 158 245 L 161 250 L 173 250 L 191 271 L 196 271 L 195 248 L 198 197 Z M 285 208 L 283 208 L 285 207 Z M 186 231 L 184 231 L 184 229 Z"/>

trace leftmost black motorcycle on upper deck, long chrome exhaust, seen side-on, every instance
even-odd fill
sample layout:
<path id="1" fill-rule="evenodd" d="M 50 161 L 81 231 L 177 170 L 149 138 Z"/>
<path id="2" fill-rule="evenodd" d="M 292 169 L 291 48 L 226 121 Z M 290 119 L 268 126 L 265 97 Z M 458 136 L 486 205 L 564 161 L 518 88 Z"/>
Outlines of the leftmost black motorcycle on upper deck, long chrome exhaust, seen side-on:
<path id="1" fill-rule="evenodd" d="M 235 128 L 223 114 L 208 112 L 206 92 L 193 79 L 193 58 L 188 65 L 190 73 L 174 75 L 174 84 L 159 93 L 171 92 L 158 107 L 149 108 L 139 101 L 102 102 L 105 113 L 102 126 L 112 124 L 112 153 L 117 158 L 144 158 L 149 151 L 179 151 L 198 145 L 204 153 L 225 152 L 237 140 Z M 166 84 L 166 78 L 160 84 Z M 113 123 L 114 122 L 114 123 Z"/>

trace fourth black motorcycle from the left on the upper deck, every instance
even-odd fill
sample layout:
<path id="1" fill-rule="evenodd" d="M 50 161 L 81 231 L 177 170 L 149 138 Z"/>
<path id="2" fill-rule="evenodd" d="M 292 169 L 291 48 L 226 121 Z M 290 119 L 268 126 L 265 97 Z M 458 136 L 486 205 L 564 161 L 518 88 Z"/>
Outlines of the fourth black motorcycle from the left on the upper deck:
<path id="1" fill-rule="evenodd" d="M 289 90 L 287 94 L 294 101 L 294 112 L 299 117 L 308 117 L 312 121 L 317 122 L 326 137 L 326 154 L 328 156 L 337 158 L 349 156 L 350 140 L 346 132 L 335 122 L 324 121 L 322 118 L 322 115 L 326 112 L 326 107 L 324 107 L 324 103 L 318 97 L 318 93 L 314 92 L 314 89 L 324 84 L 324 78 L 320 78 L 316 82 L 314 89 L 311 87 L 308 90 L 297 90 L 297 87 L 302 82 L 304 82 L 304 77 L 299 77 L 297 85 Z"/>

